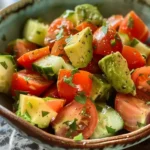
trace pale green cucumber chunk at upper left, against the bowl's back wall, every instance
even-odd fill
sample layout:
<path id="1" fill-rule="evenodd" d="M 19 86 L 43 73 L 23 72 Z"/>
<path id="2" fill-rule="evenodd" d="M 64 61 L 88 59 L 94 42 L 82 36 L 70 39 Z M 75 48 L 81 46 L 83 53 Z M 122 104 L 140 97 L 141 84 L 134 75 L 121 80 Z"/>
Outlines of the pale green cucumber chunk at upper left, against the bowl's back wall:
<path id="1" fill-rule="evenodd" d="M 48 25 L 38 20 L 29 19 L 25 24 L 23 35 L 28 41 L 44 46 L 44 39 L 48 31 Z"/>

